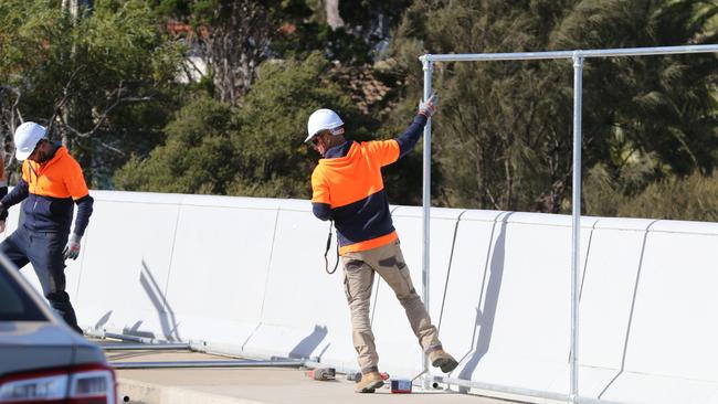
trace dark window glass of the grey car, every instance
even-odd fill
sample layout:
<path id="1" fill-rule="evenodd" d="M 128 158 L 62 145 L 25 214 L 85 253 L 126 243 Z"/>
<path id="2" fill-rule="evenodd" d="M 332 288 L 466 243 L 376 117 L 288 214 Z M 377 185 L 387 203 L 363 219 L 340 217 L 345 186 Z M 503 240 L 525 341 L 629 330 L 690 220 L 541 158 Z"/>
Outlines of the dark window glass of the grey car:
<path id="1" fill-rule="evenodd" d="M 18 281 L 0 267 L 0 321 L 46 321 Z"/>

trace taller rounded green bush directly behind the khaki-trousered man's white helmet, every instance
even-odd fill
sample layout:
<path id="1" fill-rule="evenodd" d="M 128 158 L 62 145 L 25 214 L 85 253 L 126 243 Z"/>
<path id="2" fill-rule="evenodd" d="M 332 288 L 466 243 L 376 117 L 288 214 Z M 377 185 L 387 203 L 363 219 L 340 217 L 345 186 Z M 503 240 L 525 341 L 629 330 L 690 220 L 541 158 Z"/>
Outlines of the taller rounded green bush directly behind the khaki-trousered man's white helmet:
<path id="1" fill-rule="evenodd" d="M 304 61 L 266 62 L 240 110 L 233 138 L 241 163 L 233 194 L 309 198 L 309 178 L 319 158 L 303 141 L 309 115 L 332 108 L 350 138 L 365 139 L 371 120 L 332 79 L 331 64 L 318 52 Z"/>

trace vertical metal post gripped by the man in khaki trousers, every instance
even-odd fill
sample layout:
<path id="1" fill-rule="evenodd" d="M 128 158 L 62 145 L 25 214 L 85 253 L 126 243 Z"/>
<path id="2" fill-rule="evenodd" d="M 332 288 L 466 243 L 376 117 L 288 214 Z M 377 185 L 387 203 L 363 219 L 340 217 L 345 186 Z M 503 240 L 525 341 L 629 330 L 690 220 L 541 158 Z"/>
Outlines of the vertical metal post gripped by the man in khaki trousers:
<path id="1" fill-rule="evenodd" d="M 424 66 L 424 99 L 429 99 L 432 93 L 432 73 L 434 72 L 433 63 L 424 56 L 422 60 Z M 424 174 L 423 174 L 423 222 L 422 227 L 422 258 L 421 258 L 421 272 L 422 272 L 422 294 L 424 298 L 424 305 L 426 306 L 426 311 L 429 310 L 429 221 L 430 221 L 430 209 L 431 209 L 431 118 L 426 121 L 424 126 Z M 429 372 L 429 357 L 423 354 L 424 361 L 424 372 Z M 424 387 L 429 387 L 429 378 L 424 374 Z"/>

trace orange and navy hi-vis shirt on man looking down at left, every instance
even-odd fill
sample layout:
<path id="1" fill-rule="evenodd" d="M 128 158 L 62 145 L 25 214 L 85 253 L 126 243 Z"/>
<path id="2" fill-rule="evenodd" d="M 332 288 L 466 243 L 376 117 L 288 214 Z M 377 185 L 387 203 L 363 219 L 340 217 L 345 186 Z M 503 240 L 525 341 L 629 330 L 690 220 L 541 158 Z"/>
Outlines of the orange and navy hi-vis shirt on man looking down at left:
<path id="1" fill-rule="evenodd" d="M 74 233 L 82 236 L 92 214 L 93 199 L 82 168 L 62 146 L 45 162 L 23 161 L 22 179 L 1 202 L 10 208 L 23 200 L 24 226 L 30 231 L 70 232 L 76 203 Z"/>

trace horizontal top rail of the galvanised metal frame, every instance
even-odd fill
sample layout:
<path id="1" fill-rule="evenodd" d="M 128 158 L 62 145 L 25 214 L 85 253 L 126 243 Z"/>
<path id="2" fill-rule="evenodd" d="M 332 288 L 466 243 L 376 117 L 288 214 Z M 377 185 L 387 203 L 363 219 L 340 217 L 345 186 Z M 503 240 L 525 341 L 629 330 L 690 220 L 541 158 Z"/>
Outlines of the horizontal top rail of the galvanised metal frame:
<path id="1" fill-rule="evenodd" d="M 548 51 L 548 52 L 517 52 L 517 53 L 463 53 L 463 54 L 425 54 L 419 59 L 430 62 L 473 62 L 473 61 L 527 61 L 549 59 L 576 57 L 610 57 L 610 56 L 646 56 L 671 55 L 684 53 L 712 53 L 718 52 L 718 44 L 714 45 L 686 45 L 686 46 L 657 46 L 657 47 L 626 47 L 593 51 Z"/>

